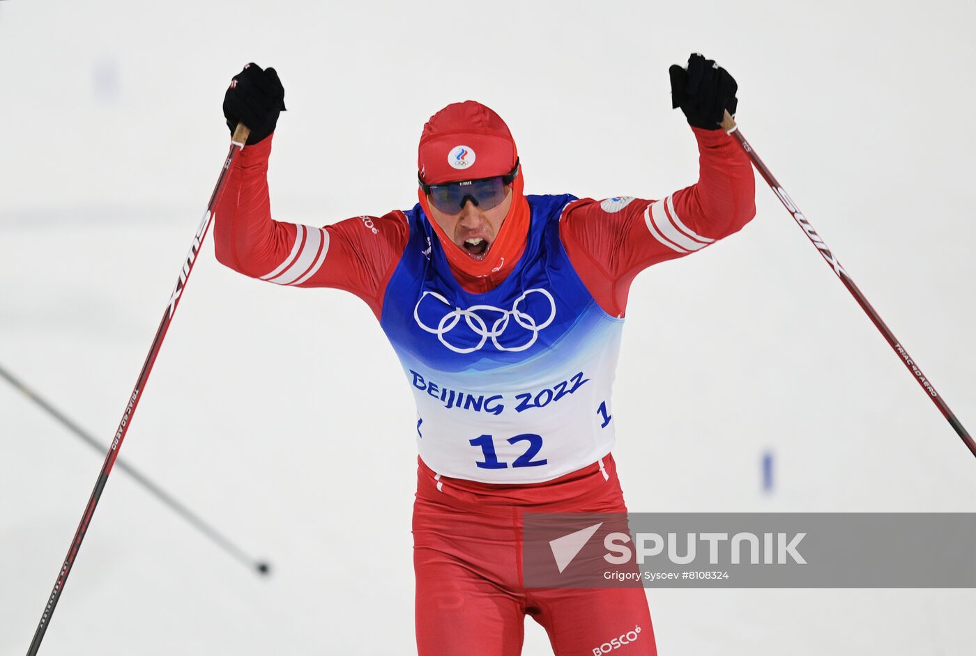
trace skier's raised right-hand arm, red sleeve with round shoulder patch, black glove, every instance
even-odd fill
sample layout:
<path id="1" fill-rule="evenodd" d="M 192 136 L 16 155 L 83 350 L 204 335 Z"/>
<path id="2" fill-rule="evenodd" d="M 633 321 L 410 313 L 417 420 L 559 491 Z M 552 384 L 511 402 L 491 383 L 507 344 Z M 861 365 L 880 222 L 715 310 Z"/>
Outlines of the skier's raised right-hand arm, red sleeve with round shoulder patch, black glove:
<path id="1" fill-rule="evenodd" d="M 630 283 L 643 269 L 700 251 L 740 230 L 755 214 L 752 163 L 718 126 L 736 109 L 735 80 L 693 55 L 671 66 L 671 94 L 698 140 L 698 182 L 659 200 L 584 199 L 567 208 L 560 237 L 601 307 L 623 316 Z"/>

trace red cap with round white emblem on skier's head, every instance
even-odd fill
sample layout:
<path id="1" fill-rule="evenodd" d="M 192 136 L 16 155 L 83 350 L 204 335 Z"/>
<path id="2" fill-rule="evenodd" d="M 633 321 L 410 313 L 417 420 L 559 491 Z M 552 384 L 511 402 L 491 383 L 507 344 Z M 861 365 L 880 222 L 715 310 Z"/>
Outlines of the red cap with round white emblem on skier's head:
<path id="1" fill-rule="evenodd" d="M 518 159 L 502 117 L 475 102 L 452 102 L 430 117 L 417 168 L 427 184 L 508 174 Z"/>

